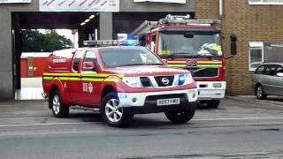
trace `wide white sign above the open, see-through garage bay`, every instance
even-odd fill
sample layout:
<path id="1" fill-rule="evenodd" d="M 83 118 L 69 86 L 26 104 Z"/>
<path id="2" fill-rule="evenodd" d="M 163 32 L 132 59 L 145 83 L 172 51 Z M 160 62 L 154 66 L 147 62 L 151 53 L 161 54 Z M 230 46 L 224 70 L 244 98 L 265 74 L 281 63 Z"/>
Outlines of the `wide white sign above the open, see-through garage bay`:
<path id="1" fill-rule="evenodd" d="M 39 0 L 39 5 L 40 11 L 119 11 L 119 0 Z"/>

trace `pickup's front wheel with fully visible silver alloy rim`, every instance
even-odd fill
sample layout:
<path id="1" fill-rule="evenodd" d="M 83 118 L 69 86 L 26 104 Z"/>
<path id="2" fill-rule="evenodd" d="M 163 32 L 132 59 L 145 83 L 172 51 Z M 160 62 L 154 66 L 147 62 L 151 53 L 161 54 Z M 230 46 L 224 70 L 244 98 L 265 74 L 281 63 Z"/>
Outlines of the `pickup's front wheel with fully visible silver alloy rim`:
<path id="1" fill-rule="evenodd" d="M 123 107 L 119 107 L 119 98 L 116 93 L 109 93 L 103 97 L 101 113 L 103 120 L 111 127 L 126 127 L 134 117 Z"/>

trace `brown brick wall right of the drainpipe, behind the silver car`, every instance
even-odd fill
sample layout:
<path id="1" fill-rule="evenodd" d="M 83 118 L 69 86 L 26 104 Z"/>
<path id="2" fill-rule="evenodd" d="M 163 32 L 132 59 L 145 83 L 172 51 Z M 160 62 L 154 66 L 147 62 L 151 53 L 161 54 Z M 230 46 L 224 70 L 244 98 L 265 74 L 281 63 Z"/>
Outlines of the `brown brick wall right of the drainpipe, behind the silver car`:
<path id="1" fill-rule="evenodd" d="M 248 0 L 225 1 L 224 5 L 222 31 L 238 36 L 238 55 L 226 63 L 227 93 L 253 95 L 249 42 L 283 41 L 283 5 L 249 5 Z M 226 41 L 226 50 L 227 46 Z"/>

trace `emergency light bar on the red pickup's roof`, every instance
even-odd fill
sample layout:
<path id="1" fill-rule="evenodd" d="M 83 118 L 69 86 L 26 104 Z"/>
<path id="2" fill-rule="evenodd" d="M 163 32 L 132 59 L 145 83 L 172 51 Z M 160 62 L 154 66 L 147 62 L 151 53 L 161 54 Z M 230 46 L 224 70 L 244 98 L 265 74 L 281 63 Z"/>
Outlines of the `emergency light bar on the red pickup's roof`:
<path id="1" fill-rule="evenodd" d="M 103 41 L 84 41 L 85 46 L 134 46 L 137 40 L 103 40 Z"/>

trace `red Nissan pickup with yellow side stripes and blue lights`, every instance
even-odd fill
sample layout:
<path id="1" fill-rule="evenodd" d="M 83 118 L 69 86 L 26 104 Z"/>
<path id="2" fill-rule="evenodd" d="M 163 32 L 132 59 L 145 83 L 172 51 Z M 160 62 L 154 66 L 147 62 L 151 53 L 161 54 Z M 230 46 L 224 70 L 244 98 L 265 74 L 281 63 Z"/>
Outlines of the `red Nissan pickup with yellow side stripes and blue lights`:
<path id="1" fill-rule="evenodd" d="M 189 121 L 197 101 L 191 73 L 166 66 L 149 49 L 123 43 L 132 42 L 87 41 L 88 47 L 50 55 L 42 85 L 54 117 L 67 117 L 71 108 L 99 111 L 115 127 L 143 113 Z"/>

